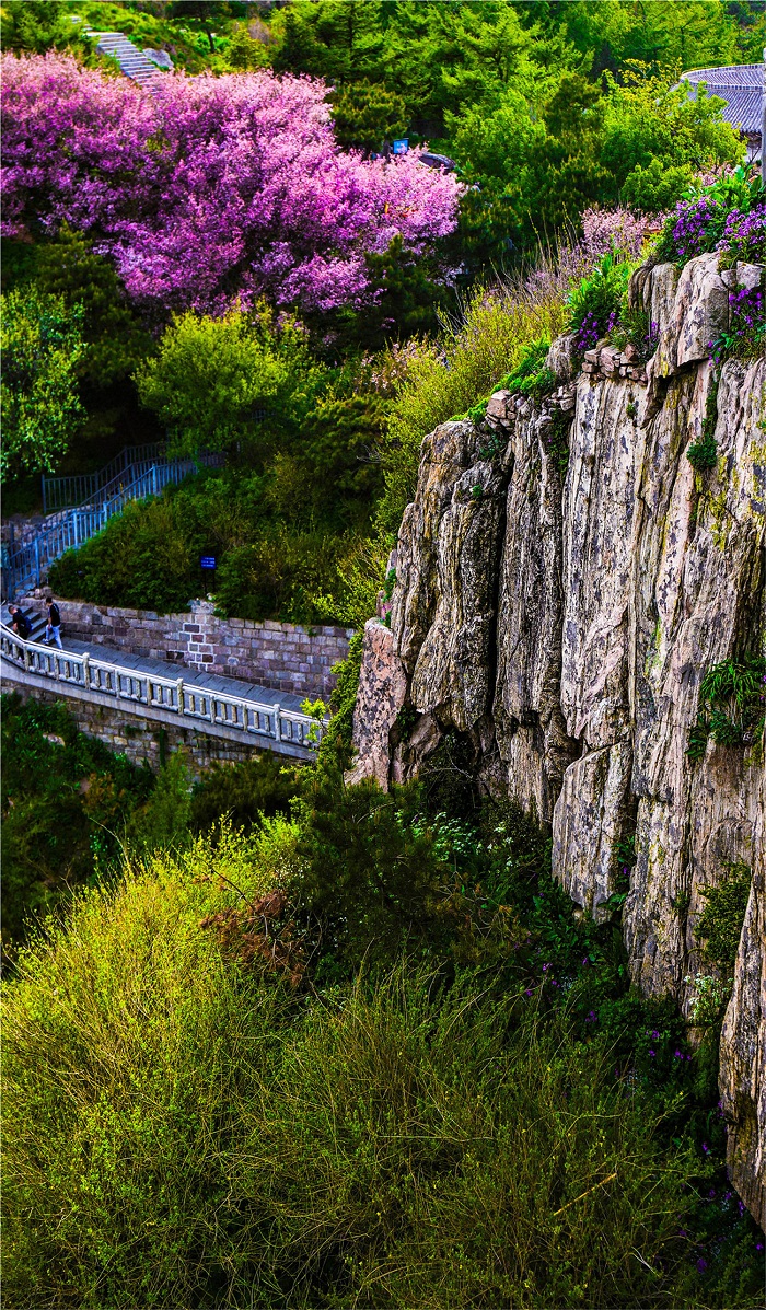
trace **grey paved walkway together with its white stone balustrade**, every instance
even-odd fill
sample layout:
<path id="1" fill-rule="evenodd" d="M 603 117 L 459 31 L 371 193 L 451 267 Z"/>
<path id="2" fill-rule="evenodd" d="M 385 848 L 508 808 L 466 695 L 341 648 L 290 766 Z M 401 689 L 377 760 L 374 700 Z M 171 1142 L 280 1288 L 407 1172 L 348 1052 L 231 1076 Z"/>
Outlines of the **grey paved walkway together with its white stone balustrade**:
<path id="1" fill-rule="evenodd" d="M 4 625 L 0 677 L 5 690 L 13 684 L 55 690 L 299 760 L 314 758 L 312 739 L 321 730 L 301 713 L 301 698 L 288 692 L 85 642 L 67 641 L 58 651 L 41 641 L 22 642 Z"/>

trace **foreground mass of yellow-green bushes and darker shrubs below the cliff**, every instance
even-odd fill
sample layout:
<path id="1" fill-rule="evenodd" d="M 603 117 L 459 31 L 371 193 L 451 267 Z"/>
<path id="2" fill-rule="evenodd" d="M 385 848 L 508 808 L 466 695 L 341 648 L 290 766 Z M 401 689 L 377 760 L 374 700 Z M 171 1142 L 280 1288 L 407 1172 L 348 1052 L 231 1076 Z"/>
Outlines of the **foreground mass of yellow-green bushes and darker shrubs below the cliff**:
<path id="1" fill-rule="evenodd" d="M 5 1303 L 758 1305 L 714 1048 L 546 862 L 326 776 L 79 897 L 5 989 Z"/>

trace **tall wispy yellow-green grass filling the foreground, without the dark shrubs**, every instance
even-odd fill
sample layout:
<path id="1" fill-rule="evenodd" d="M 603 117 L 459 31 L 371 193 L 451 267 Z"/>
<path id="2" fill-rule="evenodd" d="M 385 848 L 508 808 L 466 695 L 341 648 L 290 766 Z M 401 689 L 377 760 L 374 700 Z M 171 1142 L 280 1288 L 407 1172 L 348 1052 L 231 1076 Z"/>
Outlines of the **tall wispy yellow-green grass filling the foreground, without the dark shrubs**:
<path id="1" fill-rule="evenodd" d="M 299 996 L 221 954 L 202 920 L 295 837 L 134 867 L 22 958 L 5 1306 L 698 1303 L 691 1155 L 566 1013 L 406 960 Z"/>

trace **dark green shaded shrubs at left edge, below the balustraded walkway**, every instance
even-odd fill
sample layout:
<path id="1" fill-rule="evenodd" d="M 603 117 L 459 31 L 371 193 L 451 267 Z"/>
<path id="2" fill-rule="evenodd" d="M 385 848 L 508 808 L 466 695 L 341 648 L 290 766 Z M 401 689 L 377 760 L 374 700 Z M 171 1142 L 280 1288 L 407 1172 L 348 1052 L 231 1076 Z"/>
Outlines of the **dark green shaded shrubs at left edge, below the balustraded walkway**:
<path id="1" fill-rule="evenodd" d="M 14 959 L 35 922 L 82 886 L 109 880 L 126 849 L 183 849 L 221 815 L 251 827 L 287 812 L 297 783 L 268 753 L 213 765 L 192 785 L 183 753 L 160 735 L 158 774 L 77 731 L 65 702 L 0 698 L 3 947 Z M 130 736 L 131 724 L 126 724 Z"/>

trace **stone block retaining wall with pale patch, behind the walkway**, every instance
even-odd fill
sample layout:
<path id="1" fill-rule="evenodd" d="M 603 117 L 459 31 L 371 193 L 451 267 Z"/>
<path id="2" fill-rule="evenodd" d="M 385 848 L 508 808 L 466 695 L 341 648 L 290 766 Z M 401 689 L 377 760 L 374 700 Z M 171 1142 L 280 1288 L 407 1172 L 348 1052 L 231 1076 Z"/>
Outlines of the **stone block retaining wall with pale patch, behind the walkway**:
<path id="1" fill-rule="evenodd" d="M 42 613 L 45 595 L 45 588 L 33 592 L 21 604 Z M 58 605 L 64 646 L 69 637 L 296 696 L 329 697 L 335 686 L 333 664 L 346 659 L 354 635 L 347 627 L 219 618 L 215 605 L 207 600 L 192 600 L 185 614 L 156 614 L 147 609 L 117 609 L 73 600 L 60 600 Z"/>

